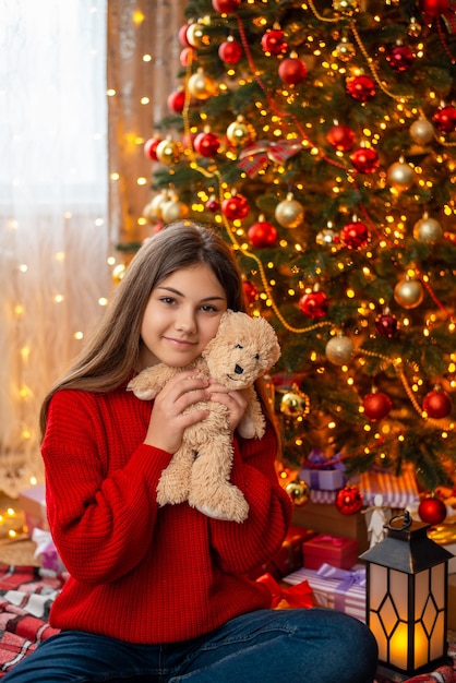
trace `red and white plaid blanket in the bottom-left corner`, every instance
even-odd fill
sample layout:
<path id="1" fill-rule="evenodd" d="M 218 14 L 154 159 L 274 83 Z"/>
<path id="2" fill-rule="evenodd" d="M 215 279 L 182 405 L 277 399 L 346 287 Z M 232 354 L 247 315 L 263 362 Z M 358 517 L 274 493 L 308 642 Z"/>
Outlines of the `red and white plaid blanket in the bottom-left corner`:
<path id="1" fill-rule="evenodd" d="M 48 616 L 64 580 L 40 567 L 0 565 L 0 678 L 58 633 Z"/>

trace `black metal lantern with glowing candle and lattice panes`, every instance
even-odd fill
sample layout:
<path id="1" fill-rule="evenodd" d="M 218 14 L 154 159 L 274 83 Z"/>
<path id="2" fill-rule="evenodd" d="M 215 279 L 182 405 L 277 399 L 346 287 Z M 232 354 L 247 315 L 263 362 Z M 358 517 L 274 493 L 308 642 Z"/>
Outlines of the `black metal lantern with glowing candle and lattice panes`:
<path id="1" fill-rule="evenodd" d="M 406 511 L 385 525 L 386 538 L 367 562 L 367 624 L 386 670 L 409 678 L 447 662 L 451 552 L 428 538 L 430 525 Z"/>

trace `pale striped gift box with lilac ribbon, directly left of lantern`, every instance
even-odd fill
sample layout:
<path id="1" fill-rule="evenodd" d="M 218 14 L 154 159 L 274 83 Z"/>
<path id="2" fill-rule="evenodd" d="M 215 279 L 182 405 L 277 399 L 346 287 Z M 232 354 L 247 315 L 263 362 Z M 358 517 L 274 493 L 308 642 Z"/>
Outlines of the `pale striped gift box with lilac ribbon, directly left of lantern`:
<path id="1" fill-rule="evenodd" d="M 320 607 L 345 612 L 365 622 L 365 567 L 351 570 L 323 564 L 319 570 L 302 567 L 283 579 L 292 586 L 307 580 Z"/>

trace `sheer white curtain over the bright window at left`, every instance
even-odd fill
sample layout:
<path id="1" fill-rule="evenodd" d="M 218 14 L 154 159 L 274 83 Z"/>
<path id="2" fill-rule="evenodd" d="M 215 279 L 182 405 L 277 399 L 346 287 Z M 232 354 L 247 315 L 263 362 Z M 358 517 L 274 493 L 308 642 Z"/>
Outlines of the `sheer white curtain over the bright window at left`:
<path id="1" fill-rule="evenodd" d="M 43 397 L 103 314 L 107 0 L 0 0 L 0 490 L 43 478 Z"/>

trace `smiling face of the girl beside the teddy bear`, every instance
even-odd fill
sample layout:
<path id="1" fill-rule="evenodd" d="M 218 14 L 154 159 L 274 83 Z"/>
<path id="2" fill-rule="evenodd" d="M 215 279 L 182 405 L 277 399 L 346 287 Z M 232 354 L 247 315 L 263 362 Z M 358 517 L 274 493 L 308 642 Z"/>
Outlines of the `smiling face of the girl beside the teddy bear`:
<path id="1" fill-rule="evenodd" d="M 227 297 L 212 268 L 180 268 L 151 293 L 141 326 L 141 370 L 158 362 L 182 368 L 215 337 Z"/>

